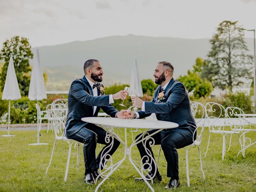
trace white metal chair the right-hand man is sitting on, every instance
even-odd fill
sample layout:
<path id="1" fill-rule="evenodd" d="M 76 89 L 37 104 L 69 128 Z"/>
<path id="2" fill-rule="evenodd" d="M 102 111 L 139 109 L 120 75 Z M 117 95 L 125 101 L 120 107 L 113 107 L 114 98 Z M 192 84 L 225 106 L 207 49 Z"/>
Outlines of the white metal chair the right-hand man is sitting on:
<path id="1" fill-rule="evenodd" d="M 193 139 L 193 143 L 191 145 L 184 147 L 184 150 L 185 150 L 185 153 L 186 153 L 186 173 L 187 173 L 188 186 L 190 186 L 189 171 L 188 171 L 188 149 L 192 146 L 197 146 L 198 147 L 199 160 L 200 160 L 200 169 L 202 171 L 203 179 L 205 179 L 204 170 L 203 170 L 203 166 L 202 166 L 200 144 L 202 142 L 202 132 L 204 131 L 206 110 L 205 110 L 205 106 L 200 102 L 190 102 L 190 105 L 191 105 L 192 114 L 196 118 L 197 128 L 193 133 L 193 138 L 194 138 L 194 135 L 196 134 L 196 140 Z M 200 132 L 198 132 L 199 130 L 200 130 Z"/>

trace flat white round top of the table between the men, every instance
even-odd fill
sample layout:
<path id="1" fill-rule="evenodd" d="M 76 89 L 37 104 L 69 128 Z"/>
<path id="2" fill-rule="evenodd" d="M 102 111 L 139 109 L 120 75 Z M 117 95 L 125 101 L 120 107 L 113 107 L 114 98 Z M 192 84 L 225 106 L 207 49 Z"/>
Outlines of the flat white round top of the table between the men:
<path id="1" fill-rule="evenodd" d="M 146 119 L 120 119 L 120 118 L 109 118 L 109 117 L 84 117 L 82 121 L 106 125 L 117 128 L 140 128 L 140 129 L 170 129 L 176 128 L 179 125 L 168 121 L 154 121 Z"/>

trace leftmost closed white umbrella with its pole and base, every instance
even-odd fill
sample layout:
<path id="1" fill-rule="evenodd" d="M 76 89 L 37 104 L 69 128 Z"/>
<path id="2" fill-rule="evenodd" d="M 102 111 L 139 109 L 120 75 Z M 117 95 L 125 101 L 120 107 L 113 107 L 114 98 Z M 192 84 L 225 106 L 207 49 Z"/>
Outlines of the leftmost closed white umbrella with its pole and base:
<path id="1" fill-rule="evenodd" d="M 9 108 L 8 108 L 8 135 L 3 136 L 14 136 L 10 135 L 10 108 L 11 108 L 11 102 L 10 100 L 17 100 L 20 99 L 20 88 L 18 85 L 18 80 L 16 77 L 15 69 L 14 69 L 14 63 L 12 57 L 9 60 L 7 74 L 6 74 L 6 80 L 4 84 L 4 91 L 2 94 L 2 100 L 9 100 Z"/>

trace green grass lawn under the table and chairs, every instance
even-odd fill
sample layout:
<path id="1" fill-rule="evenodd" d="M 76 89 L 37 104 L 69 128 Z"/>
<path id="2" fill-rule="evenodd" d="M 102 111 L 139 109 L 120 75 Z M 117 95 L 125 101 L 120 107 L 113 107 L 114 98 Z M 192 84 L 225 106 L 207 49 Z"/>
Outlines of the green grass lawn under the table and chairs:
<path id="1" fill-rule="evenodd" d="M 84 160 L 80 150 L 80 168 L 76 172 L 76 150 L 72 148 L 70 168 L 67 182 L 64 182 L 66 160 L 68 155 L 68 144 L 63 141 L 57 142 L 52 165 L 45 177 L 52 147 L 54 133 L 41 132 L 40 142 L 49 143 L 47 146 L 29 146 L 36 142 L 36 131 L 11 131 L 15 137 L 0 137 L 0 191 L 65 191 L 65 192 L 93 192 L 96 186 L 84 184 Z M 122 134 L 122 132 L 119 133 Z M 0 135 L 6 134 L 1 131 Z M 232 191 L 256 191 L 256 145 L 246 150 L 246 157 L 237 157 L 239 151 L 238 136 L 233 136 L 230 151 L 222 161 L 222 136 L 212 134 L 208 154 L 204 158 L 208 141 L 208 128 L 204 131 L 204 139 L 201 144 L 203 169 L 206 179 L 202 179 L 198 158 L 198 149 L 190 148 L 189 173 L 190 187 L 186 182 L 186 160 L 184 149 L 179 149 L 180 181 L 181 185 L 176 192 L 207 191 L 207 192 L 232 192 Z M 255 138 L 255 134 L 249 134 Z M 229 137 L 228 137 L 229 139 Z M 131 141 L 130 133 L 128 141 Z M 227 142 L 228 143 L 228 142 Z M 154 154 L 157 158 L 159 146 L 154 146 Z M 100 146 L 97 147 L 97 153 Z M 114 161 L 123 157 L 123 146 L 120 146 L 113 156 Z M 133 152 L 134 159 L 140 160 L 138 150 Z M 169 178 L 166 177 L 166 161 L 163 152 L 160 154 L 160 174 L 163 181 L 154 183 L 152 187 L 156 192 L 166 191 L 164 186 Z M 128 158 L 114 172 L 110 179 L 100 187 L 100 192 L 150 192 L 148 186 L 143 182 L 135 182 L 138 173 L 130 164 Z"/>

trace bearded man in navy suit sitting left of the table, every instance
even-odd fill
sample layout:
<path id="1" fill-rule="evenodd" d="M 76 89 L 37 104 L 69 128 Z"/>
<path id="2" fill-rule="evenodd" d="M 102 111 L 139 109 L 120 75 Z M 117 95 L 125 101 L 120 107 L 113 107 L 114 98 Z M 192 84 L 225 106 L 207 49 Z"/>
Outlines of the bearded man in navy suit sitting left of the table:
<path id="1" fill-rule="evenodd" d="M 125 99 L 128 92 L 119 91 L 113 95 L 104 95 L 102 84 L 102 66 L 98 60 L 90 59 L 84 63 L 85 76 L 72 82 L 68 93 L 68 116 L 66 121 L 66 137 L 84 144 L 84 165 L 86 184 L 94 184 L 100 168 L 100 156 L 105 148 L 110 148 L 111 142 L 106 143 L 106 131 L 96 126 L 83 122 L 83 117 L 96 117 L 100 108 L 111 117 L 126 118 L 125 110 L 118 112 L 111 103 L 116 99 Z M 95 156 L 96 143 L 104 144 L 104 148 Z M 111 150 L 105 153 L 112 155 L 120 142 L 114 139 Z M 109 158 L 109 155 L 106 157 Z M 103 164 L 106 158 L 102 160 Z"/>

